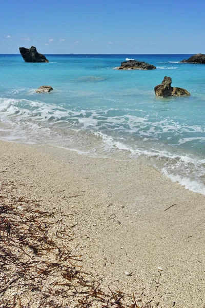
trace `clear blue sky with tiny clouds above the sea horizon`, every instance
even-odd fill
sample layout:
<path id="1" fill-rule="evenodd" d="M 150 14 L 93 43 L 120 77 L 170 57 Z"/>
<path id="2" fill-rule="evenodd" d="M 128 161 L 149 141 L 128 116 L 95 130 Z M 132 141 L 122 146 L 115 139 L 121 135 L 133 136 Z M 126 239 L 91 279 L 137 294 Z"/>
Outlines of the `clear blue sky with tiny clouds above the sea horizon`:
<path id="1" fill-rule="evenodd" d="M 7 0 L 0 53 L 205 53 L 204 1 Z"/>

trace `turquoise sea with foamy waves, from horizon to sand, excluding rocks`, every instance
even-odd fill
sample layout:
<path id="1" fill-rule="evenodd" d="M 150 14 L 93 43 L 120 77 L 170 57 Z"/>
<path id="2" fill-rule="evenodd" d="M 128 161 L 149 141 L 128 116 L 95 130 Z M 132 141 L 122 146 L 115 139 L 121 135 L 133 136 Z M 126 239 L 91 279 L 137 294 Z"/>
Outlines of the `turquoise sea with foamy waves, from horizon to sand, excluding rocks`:
<path id="1" fill-rule="evenodd" d="M 135 159 L 205 195 L 205 65 L 179 63 L 190 56 L 1 54 L 0 138 Z M 157 69 L 116 70 L 126 59 Z M 156 98 L 165 75 L 191 97 Z"/>

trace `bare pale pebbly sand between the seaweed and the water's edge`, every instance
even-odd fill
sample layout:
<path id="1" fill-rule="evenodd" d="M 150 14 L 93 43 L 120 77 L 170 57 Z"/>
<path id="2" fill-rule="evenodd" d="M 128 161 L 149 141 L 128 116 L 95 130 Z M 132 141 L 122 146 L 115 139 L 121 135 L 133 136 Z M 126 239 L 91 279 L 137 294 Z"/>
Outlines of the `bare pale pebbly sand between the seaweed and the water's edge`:
<path id="1" fill-rule="evenodd" d="M 0 156 L 1 183 L 67 215 L 73 253 L 103 287 L 150 307 L 204 307 L 203 195 L 134 160 L 5 141 Z"/>

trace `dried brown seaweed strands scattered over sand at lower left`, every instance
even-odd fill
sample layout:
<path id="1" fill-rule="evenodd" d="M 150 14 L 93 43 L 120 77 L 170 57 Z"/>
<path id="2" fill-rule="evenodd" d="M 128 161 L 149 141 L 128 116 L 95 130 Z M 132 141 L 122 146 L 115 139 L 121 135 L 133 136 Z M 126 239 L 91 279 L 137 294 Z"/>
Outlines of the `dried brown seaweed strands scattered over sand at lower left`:
<path id="1" fill-rule="evenodd" d="M 134 295 L 106 292 L 83 271 L 81 256 L 72 255 L 74 235 L 61 210 L 40 210 L 39 202 L 14 196 L 14 186 L 1 185 L 1 307 L 139 307 Z"/>

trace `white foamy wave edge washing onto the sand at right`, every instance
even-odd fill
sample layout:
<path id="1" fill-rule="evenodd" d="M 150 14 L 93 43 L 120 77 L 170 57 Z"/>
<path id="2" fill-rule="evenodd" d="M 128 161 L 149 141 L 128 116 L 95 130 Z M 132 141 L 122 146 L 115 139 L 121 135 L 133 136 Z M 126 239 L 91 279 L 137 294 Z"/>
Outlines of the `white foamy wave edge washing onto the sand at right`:
<path id="1" fill-rule="evenodd" d="M 188 155 L 177 155 L 166 150 L 156 150 L 154 148 L 133 148 L 126 143 L 114 140 L 102 132 L 93 132 L 97 138 L 101 138 L 105 144 L 105 151 L 122 150 L 130 153 L 132 157 L 146 157 L 149 160 L 155 158 L 155 167 L 163 175 L 169 177 L 173 182 L 178 182 L 199 194 L 205 195 L 205 185 L 201 177 L 205 175 L 205 159 L 198 159 Z"/>

